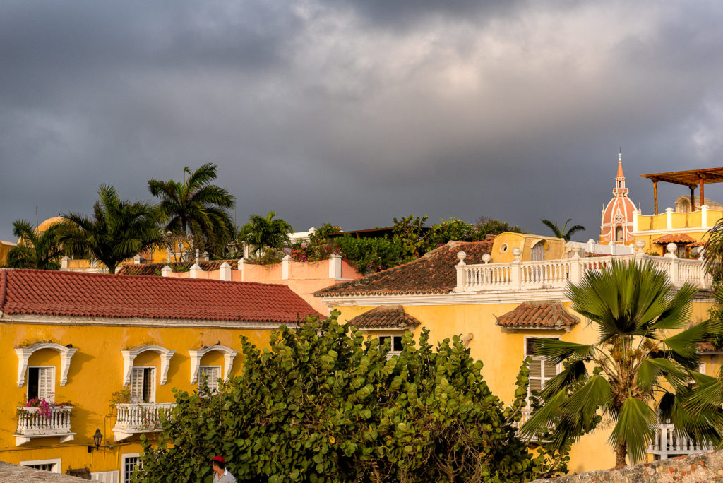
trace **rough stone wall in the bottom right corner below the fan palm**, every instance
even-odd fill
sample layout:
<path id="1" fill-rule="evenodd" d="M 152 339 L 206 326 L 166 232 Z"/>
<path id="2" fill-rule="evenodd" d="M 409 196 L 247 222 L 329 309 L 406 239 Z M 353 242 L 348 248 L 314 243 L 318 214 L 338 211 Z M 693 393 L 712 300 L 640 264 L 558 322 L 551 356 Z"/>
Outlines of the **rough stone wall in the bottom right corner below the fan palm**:
<path id="1" fill-rule="evenodd" d="M 633 483 L 633 482 L 723 482 L 723 451 L 680 456 L 621 469 L 590 471 L 562 476 L 557 479 L 538 479 L 532 483 Z"/>

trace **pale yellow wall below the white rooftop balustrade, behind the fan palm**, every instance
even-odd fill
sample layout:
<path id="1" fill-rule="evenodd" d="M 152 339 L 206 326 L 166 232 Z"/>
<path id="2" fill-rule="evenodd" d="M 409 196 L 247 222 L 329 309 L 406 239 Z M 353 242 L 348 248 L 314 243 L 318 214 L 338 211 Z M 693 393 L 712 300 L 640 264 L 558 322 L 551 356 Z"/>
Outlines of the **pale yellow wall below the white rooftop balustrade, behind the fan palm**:
<path id="1" fill-rule="evenodd" d="M 361 305 L 361 300 L 359 302 L 359 307 L 333 304 L 332 307 L 341 312 L 339 315 L 341 322 L 348 322 L 357 315 L 376 307 Z M 564 330 L 508 330 L 495 324 L 495 315 L 503 315 L 515 309 L 519 304 L 520 302 L 415 304 L 405 305 L 404 310 L 420 322 L 420 325 L 414 330 L 415 339 L 419 338 L 422 328 L 429 329 L 429 338 L 432 342 L 451 338 L 456 334 L 465 336 L 471 333 L 473 338 L 469 342 L 470 355 L 484 363 L 482 368 L 484 380 L 487 381 L 492 393 L 500 397 L 502 401 L 510 402 L 514 398 L 516 377 L 524 359 L 526 337 L 558 336 L 563 341 L 591 343 L 596 341 L 598 336 L 596 329 L 588 325 L 584 317 L 570 309 L 570 302 L 565 302 L 565 307 L 570 313 L 581 319 L 581 322 L 575 325 L 570 333 Z M 712 302 L 694 303 L 691 321 L 706 320 L 711 305 Z M 710 359 L 708 360 L 710 361 Z M 711 364 L 708 365 L 711 366 Z M 573 445 L 568 465 L 570 472 L 580 473 L 615 466 L 615 453 L 607 444 L 612 426 L 613 424 L 604 422 L 596 432 L 586 435 Z"/>

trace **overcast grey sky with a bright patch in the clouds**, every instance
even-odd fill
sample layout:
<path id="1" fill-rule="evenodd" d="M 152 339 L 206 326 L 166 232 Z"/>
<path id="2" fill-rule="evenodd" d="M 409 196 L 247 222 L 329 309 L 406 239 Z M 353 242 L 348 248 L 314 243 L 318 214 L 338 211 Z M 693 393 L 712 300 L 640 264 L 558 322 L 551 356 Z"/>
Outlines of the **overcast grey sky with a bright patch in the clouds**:
<path id="1" fill-rule="evenodd" d="M 721 25 L 719 1 L 3 0 L 0 239 L 206 162 L 239 224 L 596 239 L 619 148 L 645 214 L 641 174 L 723 166 Z"/>

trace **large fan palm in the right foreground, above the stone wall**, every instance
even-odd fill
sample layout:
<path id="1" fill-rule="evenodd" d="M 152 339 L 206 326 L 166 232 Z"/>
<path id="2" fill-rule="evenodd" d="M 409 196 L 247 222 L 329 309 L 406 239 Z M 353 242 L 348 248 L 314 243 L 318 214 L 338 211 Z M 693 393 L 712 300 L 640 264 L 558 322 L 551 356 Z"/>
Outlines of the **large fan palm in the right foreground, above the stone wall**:
<path id="1" fill-rule="evenodd" d="M 698 344 L 721 333 L 721 322 L 706 320 L 683 330 L 696 291 L 688 284 L 675 291 L 649 262 L 617 260 L 568 286 L 573 309 L 596 326 L 599 340 L 539 339 L 536 354 L 564 369 L 539 393 L 542 405 L 523 425 L 523 435 L 552 427 L 552 440 L 562 448 L 589 431 L 601 411 L 615 422 L 609 443 L 616 466 L 624 466 L 625 456 L 631 463 L 645 458 L 657 412 L 699 443 L 721 443 L 723 396 L 712 398 L 689 386 L 696 381 L 701 389 L 722 391 L 721 380 L 698 372 Z"/>

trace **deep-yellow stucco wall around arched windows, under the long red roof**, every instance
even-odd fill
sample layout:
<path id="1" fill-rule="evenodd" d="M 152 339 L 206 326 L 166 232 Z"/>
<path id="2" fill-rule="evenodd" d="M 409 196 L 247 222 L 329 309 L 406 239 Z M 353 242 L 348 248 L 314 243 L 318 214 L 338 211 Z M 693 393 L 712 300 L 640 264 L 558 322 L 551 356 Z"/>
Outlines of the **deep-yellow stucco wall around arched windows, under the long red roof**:
<path id="1" fill-rule="evenodd" d="M 88 325 L 17 325 L 0 323 L 0 354 L 4 354 L 6 370 L 0 372 L 4 404 L 0 405 L 0 461 L 20 463 L 61 458 L 62 472 L 69 467 L 89 467 L 91 471 L 112 471 L 120 468 L 121 455 L 138 453 L 140 443 L 137 435 L 121 443 L 114 441 L 112 428 L 115 416 L 111 414 L 111 393 L 123 386 L 122 349 L 135 346 L 158 345 L 176 351 L 168 368 L 168 382 L 160 385 L 161 361 L 155 352 L 142 352 L 134 360 L 134 366 L 156 367 L 155 402 L 174 401 L 172 388 L 192 391 L 190 384 L 191 361 L 189 349 L 202 345 L 213 346 L 218 342 L 239 351 L 234 359 L 231 374 L 238 373 L 243 364 L 240 336 L 246 335 L 257 346 L 268 345 L 268 330 L 244 330 L 221 328 L 140 328 Z M 17 387 L 18 359 L 14 348 L 40 341 L 53 341 L 61 345 L 71 343 L 77 352 L 72 356 L 68 382 L 60 385 L 61 358 L 57 351 L 35 351 L 28 366 L 51 365 L 56 367 L 55 401 L 71 401 L 72 431 L 74 440 L 59 443 L 59 437 L 33 438 L 30 443 L 16 447 L 13 437 L 17 427 L 14 408 L 24 405 L 27 395 L 25 385 Z M 201 365 L 223 366 L 219 351 L 205 354 Z M 17 404 L 16 404 L 17 403 Z M 100 450 L 87 453 L 87 445 L 93 445 L 95 429 L 103 433 Z"/>

